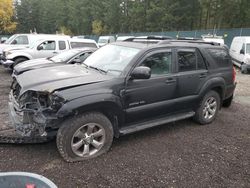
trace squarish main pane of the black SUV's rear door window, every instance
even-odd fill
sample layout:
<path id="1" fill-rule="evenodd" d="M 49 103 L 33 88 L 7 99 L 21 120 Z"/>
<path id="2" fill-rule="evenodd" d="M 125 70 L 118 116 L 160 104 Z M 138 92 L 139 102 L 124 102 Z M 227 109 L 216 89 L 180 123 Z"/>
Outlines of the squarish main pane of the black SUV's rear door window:
<path id="1" fill-rule="evenodd" d="M 195 52 L 179 51 L 178 65 L 179 65 L 179 72 L 196 70 Z"/>

